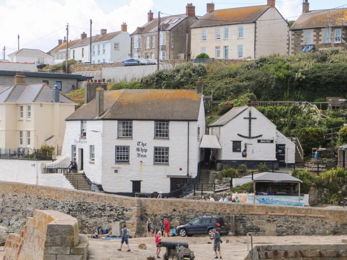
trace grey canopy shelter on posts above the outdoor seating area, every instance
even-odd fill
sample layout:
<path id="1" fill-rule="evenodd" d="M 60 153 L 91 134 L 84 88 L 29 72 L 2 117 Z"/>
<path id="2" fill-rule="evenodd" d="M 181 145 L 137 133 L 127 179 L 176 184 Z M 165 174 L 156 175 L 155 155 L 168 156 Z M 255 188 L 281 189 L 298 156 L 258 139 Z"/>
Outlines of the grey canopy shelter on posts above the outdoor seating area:
<path id="1" fill-rule="evenodd" d="M 298 186 L 298 206 L 300 206 L 300 183 L 302 182 L 300 179 L 295 178 L 291 176 L 288 173 L 282 173 L 282 172 L 265 172 L 263 175 L 255 178 L 253 180 L 253 192 L 254 192 L 254 201 L 253 204 L 255 204 L 255 196 L 256 196 L 256 190 L 255 190 L 255 184 L 257 182 L 273 182 L 273 183 L 297 183 Z"/>

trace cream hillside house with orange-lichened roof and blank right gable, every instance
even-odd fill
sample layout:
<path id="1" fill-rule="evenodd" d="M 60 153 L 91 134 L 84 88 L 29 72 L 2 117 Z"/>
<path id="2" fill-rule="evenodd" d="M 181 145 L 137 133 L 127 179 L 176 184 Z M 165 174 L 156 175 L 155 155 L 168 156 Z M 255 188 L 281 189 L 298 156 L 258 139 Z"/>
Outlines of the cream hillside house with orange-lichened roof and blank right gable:
<path id="1" fill-rule="evenodd" d="M 289 26 L 275 0 L 219 10 L 207 3 L 207 13 L 190 28 L 191 57 L 207 53 L 216 59 L 238 59 L 289 53 Z"/>

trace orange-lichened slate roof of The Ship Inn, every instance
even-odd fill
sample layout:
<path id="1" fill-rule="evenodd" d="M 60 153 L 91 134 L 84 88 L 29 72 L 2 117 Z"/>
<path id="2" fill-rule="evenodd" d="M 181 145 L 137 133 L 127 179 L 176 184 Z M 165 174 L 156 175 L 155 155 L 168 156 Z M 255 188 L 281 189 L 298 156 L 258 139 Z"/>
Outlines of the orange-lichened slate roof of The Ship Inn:
<path id="1" fill-rule="evenodd" d="M 96 118 L 95 99 L 66 120 L 134 119 L 197 121 L 201 95 L 195 90 L 113 90 L 104 92 L 104 113 Z"/>

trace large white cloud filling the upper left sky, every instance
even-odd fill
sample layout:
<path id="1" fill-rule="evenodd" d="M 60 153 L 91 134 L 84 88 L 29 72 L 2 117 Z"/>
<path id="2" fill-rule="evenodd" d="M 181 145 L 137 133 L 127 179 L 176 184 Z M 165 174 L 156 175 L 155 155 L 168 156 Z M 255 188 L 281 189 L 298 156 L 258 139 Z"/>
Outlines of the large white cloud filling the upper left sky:
<path id="1" fill-rule="evenodd" d="M 100 34 L 103 28 L 108 32 L 119 31 L 122 22 L 128 24 L 131 33 L 147 21 L 147 11 L 153 9 L 153 5 L 153 0 L 131 0 L 105 13 L 97 0 L 66 0 L 63 3 L 55 0 L 6 0 L 0 3 L 0 47 L 6 46 L 6 55 L 16 51 L 19 34 L 20 48 L 47 52 L 66 35 L 66 23 L 70 25 L 69 39 L 80 38 L 84 31 L 89 36 L 90 19 L 93 20 L 93 35 Z M 41 37 L 44 38 L 37 40 Z"/>

